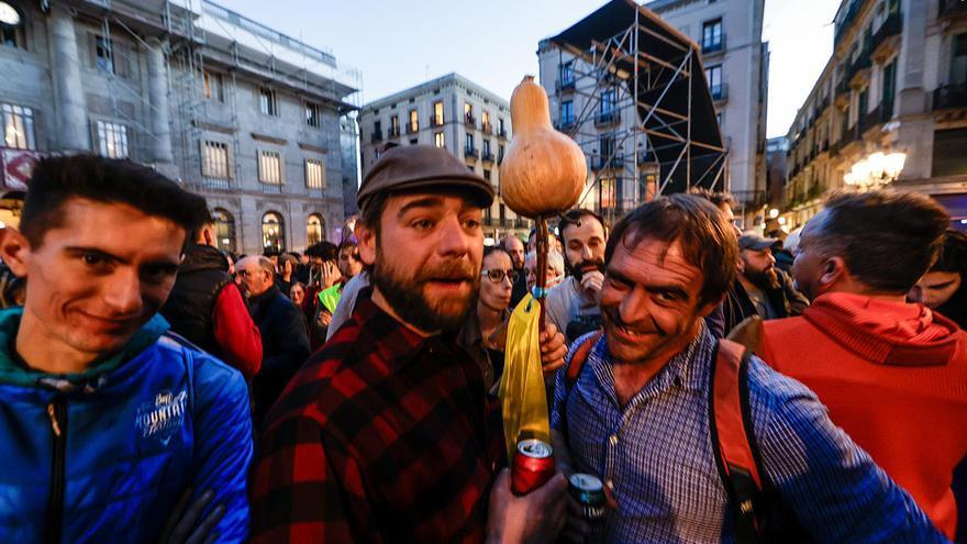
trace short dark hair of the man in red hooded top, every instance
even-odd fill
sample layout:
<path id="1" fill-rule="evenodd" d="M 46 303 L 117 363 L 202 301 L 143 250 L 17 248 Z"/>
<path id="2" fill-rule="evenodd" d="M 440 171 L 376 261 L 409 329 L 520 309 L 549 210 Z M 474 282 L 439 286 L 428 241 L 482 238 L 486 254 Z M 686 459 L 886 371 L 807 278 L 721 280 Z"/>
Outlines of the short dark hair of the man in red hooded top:
<path id="1" fill-rule="evenodd" d="M 951 223 L 933 199 L 894 190 L 837 192 L 824 212 L 810 229 L 810 245 L 842 257 L 857 280 L 883 292 L 907 292 L 916 285 L 936 259 Z"/>

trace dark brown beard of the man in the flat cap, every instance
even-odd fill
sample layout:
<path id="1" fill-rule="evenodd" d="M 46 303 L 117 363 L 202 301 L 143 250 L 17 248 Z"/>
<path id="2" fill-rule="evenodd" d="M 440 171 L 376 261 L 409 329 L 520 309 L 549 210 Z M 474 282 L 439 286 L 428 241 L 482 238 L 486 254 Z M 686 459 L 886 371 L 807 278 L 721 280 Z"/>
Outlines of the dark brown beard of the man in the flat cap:
<path id="1" fill-rule="evenodd" d="M 468 281 L 467 296 L 430 300 L 424 287 L 432 280 Z M 466 260 L 453 260 L 436 267 L 422 266 L 414 277 L 407 278 L 390 265 L 384 252 L 377 252 L 370 280 L 397 315 L 421 331 L 456 331 L 476 308 L 480 274 Z"/>

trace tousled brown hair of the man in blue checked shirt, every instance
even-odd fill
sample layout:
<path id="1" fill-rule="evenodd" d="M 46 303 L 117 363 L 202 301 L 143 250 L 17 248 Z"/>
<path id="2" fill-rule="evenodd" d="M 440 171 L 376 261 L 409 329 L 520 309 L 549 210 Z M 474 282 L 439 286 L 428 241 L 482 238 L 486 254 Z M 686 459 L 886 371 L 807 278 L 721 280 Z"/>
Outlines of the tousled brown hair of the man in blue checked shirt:
<path id="1" fill-rule="evenodd" d="M 722 212 L 709 200 L 676 193 L 635 208 L 614 225 L 604 262 L 611 262 L 619 244 L 633 249 L 643 240 L 681 244 L 685 258 L 703 275 L 700 304 L 721 300 L 732 288 L 738 242 Z"/>

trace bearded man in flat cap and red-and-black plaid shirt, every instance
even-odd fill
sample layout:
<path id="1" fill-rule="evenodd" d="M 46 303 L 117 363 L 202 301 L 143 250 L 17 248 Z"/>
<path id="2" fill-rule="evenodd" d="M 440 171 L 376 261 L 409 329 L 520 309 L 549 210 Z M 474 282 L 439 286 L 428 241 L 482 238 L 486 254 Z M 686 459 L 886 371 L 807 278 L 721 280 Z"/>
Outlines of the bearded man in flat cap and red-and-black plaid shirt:
<path id="1" fill-rule="evenodd" d="M 253 542 L 553 542 L 565 480 L 511 493 L 499 409 L 456 342 L 493 189 L 444 149 L 405 146 L 357 198 L 371 287 L 269 413 Z"/>

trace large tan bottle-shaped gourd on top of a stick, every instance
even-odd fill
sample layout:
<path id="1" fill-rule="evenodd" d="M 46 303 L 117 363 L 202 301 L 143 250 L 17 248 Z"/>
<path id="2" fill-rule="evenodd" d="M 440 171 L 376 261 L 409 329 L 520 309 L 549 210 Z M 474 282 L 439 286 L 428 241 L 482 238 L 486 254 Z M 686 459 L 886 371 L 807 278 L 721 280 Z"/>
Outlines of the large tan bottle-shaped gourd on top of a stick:
<path id="1" fill-rule="evenodd" d="M 513 141 L 500 165 L 500 196 L 529 218 L 559 213 L 581 197 L 588 175 L 585 154 L 554 130 L 547 93 L 525 76 L 510 98 Z"/>

